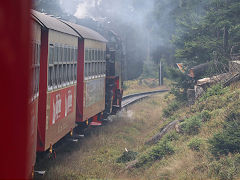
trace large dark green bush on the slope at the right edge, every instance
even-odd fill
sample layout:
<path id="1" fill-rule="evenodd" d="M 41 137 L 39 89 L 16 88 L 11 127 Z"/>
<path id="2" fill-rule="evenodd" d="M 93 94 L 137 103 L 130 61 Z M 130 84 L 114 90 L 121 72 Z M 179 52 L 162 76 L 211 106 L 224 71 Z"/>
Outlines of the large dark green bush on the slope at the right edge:
<path id="1" fill-rule="evenodd" d="M 227 155 L 240 152 L 240 113 L 230 112 L 226 117 L 223 130 L 209 139 L 213 155 Z"/>

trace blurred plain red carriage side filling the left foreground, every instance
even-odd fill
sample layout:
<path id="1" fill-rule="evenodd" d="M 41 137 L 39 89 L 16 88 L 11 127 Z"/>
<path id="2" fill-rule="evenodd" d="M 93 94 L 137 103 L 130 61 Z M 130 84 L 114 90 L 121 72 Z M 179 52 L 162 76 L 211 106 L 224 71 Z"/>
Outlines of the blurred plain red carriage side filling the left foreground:
<path id="1" fill-rule="evenodd" d="M 29 9 L 30 1 L 0 1 L 0 179 L 32 174 Z"/>

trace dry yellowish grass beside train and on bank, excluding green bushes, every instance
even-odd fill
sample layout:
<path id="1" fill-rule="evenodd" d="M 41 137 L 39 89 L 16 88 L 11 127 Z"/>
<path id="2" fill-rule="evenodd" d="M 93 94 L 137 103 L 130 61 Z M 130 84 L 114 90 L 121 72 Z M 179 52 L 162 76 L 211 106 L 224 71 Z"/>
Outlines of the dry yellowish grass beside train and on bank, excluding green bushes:
<path id="1" fill-rule="evenodd" d="M 239 105 L 239 87 L 240 83 L 235 84 L 224 95 L 210 97 L 191 107 L 183 106 L 168 119 L 162 118 L 162 110 L 174 100 L 173 96 L 166 96 L 165 93 L 142 100 L 113 117 L 111 123 L 94 129 L 88 137 L 73 145 L 73 149 L 65 150 L 69 152 L 60 154 L 55 162 L 49 164 L 50 169 L 44 179 L 159 180 L 226 177 L 211 172 L 211 163 L 217 161 L 209 151 L 208 139 L 221 131 L 226 114 Z M 209 110 L 211 118 L 202 123 L 197 135 L 178 134 L 178 140 L 172 142 L 175 147 L 173 155 L 131 170 L 126 170 L 123 163 L 116 163 L 125 147 L 142 154 L 150 148 L 144 143 L 159 132 L 164 124 L 172 119 L 196 116 L 203 109 Z M 191 150 L 188 146 L 193 138 L 202 140 L 198 151 Z M 229 167 L 220 165 L 224 169 L 222 172 L 227 174 Z M 239 176 L 235 174 L 234 177 Z"/>

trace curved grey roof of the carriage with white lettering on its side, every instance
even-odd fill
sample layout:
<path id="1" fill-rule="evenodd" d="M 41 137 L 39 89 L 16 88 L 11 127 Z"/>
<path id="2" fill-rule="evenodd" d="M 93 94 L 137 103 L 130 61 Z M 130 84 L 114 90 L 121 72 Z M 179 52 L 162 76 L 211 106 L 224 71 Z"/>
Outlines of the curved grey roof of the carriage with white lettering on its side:
<path id="1" fill-rule="evenodd" d="M 46 27 L 47 29 L 51 29 L 54 31 L 79 37 L 78 33 L 76 33 L 72 28 L 70 28 L 69 26 L 67 26 L 65 23 L 58 20 L 57 18 L 51 17 L 49 15 L 45 15 L 35 10 L 32 10 L 31 14 L 34 17 L 34 19 L 36 19 L 38 22 L 43 24 L 44 27 Z"/>

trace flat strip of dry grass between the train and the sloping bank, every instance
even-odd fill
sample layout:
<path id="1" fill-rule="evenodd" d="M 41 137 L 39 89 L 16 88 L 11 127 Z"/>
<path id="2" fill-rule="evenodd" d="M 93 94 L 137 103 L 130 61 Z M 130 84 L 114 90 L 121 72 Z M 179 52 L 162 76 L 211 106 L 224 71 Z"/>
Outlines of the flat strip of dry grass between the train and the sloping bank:
<path id="1" fill-rule="evenodd" d="M 159 130 L 163 96 L 132 105 L 111 123 L 91 130 L 86 138 L 58 152 L 57 160 L 45 165 L 48 173 L 44 179 L 139 179 L 116 159 L 125 147 L 141 151 L 145 141 Z"/>

